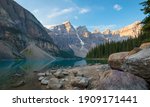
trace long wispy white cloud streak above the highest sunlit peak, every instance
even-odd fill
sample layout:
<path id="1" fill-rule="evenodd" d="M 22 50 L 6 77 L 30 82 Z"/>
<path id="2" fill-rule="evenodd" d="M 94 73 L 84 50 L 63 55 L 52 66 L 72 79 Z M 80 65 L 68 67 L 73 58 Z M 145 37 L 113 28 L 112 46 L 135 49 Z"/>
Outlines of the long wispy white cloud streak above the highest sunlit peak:
<path id="1" fill-rule="evenodd" d="M 63 10 L 55 10 L 55 11 L 52 12 L 51 15 L 48 16 L 48 18 L 55 18 L 55 17 L 58 17 L 58 16 L 62 16 L 62 15 L 71 13 L 73 11 L 74 11 L 73 8 L 65 8 Z"/>

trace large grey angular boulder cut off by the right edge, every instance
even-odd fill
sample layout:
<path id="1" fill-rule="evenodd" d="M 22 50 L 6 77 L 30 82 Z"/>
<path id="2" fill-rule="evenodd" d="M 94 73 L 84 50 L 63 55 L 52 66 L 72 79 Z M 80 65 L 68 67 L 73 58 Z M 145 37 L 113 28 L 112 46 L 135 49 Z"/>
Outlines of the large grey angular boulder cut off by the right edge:
<path id="1" fill-rule="evenodd" d="M 150 82 L 150 48 L 126 57 L 122 69 Z"/>

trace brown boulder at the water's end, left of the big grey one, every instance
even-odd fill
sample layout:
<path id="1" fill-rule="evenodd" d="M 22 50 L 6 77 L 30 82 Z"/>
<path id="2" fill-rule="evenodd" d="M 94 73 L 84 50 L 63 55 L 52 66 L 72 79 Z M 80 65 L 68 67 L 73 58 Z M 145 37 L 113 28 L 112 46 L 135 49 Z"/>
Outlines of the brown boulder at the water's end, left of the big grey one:
<path id="1" fill-rule="evenodd" d="M 109 56 L 108 63 L 112 69 L 122 70 L 121 66 L 124 63 L 125 57 L 129 52 L 114 53 Z"/>

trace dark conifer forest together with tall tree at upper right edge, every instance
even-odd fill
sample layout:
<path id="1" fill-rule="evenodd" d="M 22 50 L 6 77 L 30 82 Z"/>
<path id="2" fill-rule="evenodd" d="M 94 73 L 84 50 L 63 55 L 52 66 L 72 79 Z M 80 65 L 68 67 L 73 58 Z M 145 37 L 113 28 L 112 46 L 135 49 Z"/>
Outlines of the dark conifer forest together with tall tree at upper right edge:
<path id="1" fill-rule="evenodd" d="M 131 51 L 139 47 L 144 42 L 150 42 L 150 0 L 140 3 L 144 8 L 146 18 L 143 19 L 143 28 L 141 34 L 136 38 L 129 38 L 120 42 L 107 42 L 91 49 L 87 54 L 87 58 L 108 58 L 110 54 L 123 51 Z"/>

